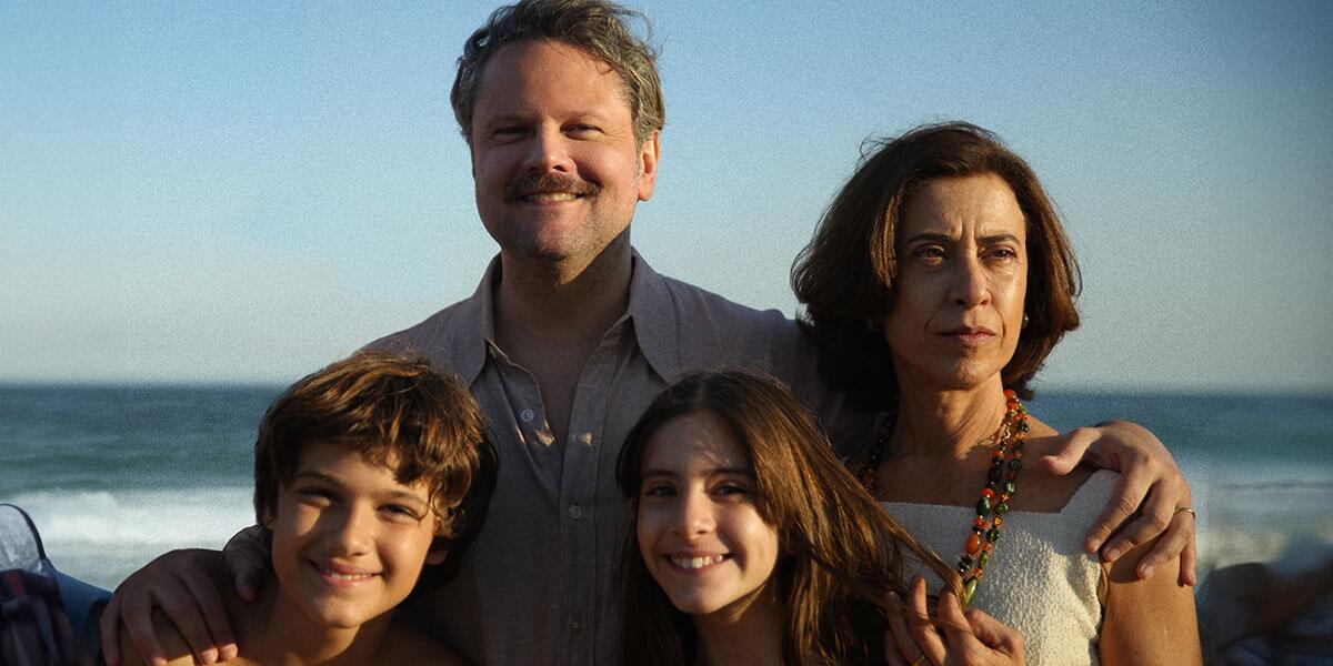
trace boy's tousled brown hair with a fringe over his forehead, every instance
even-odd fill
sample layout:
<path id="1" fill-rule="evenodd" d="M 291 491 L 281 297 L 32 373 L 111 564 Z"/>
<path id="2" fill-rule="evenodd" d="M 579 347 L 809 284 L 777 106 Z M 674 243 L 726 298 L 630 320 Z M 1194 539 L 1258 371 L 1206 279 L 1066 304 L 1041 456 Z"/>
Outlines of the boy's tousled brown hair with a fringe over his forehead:
<path id="1" fill-rule="evenodd" d="M 363 350 L 293 384 L 268 408 L 255 441 L 260 523 L 277 510 L 279 490 L 292 484 L 301 452 L 312 442 L 343 446 L 381 465 L 392 456 L 399 482 L 424 480 L 431 511 L 440 518 L 431 549 L 448 549 L 448 558 L 425 567 L 417 589 L 443 585 L 457 571 L 496 477 L 481 410 L 457 377 L 425 358 Z"/>

